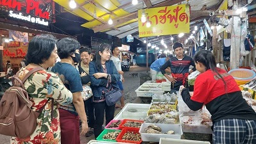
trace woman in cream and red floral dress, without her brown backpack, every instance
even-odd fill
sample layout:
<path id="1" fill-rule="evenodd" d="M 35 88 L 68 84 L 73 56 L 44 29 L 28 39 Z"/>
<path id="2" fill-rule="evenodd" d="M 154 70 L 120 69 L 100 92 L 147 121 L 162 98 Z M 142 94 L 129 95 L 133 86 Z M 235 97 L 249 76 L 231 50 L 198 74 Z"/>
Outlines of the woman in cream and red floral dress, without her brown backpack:
<path id="1" fill-rule="evenodd" d="M 24 83 L 29 100 L 33 102 L 31 109 L 42 111 L 36 120 L 35 131 L 27 138 L 12 137 L 10 143 L 60 143 L 58 104 L 70 104 L 72 93 L 65 88 L 56 74 L 46 70 L 54 66 L 57 58 L 56 40 L 51 36 L 38 35 L 29 42 L 26 54 L 29 64 L 19 70 L 19 79 L 22 80 L 34 68 L 42 68 L 29 76 Z M 50 98 L 54 99 L 54 103 Z"/>

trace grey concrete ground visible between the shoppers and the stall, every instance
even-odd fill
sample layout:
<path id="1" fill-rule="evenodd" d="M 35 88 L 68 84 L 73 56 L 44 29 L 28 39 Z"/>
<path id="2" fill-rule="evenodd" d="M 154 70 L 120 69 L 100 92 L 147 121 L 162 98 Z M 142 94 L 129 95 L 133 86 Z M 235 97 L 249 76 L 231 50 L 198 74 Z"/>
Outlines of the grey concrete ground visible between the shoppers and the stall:
<path id="1" fill-rule="evenodd" d="M 124 94 L 125 94 L 125 96 L 124 96 L 125 103 L 140 103 L 141 102 L 140 98 L 138 98 L 136 96 L 136 92 L 135 92 L 135 90 L 140 86 L 140 74 L 138 74 L 138 77 L 132 77 L 130 74 L 146 72 L 147 70 L 149 70 L 149 68 L 147 69 L 146 67 L 133 66 L 130 68 L 130 70 L 128 72 L 125 72 L 125 74 L 124 74 L 125 82 L 123 83 Z M 120 110 L 121 109 L 119 109 L 119 108 L 116 109 L 115 115 L 117 115 Z M 90 140 L 95 140 L 95 138 L 94 138 L 94 135 L 92 135 L 90 137 L 81 136 L 80 140 L 81 140 L 81 144 L 85 144 L 85 143 L 88 143 L 88 141 L 90 141 Z M 10 136 L 4 136 L 4 135 L 0 134 L 0 141 L 1 141 L 0 142 L 1 144 L 9 144 Z"/>

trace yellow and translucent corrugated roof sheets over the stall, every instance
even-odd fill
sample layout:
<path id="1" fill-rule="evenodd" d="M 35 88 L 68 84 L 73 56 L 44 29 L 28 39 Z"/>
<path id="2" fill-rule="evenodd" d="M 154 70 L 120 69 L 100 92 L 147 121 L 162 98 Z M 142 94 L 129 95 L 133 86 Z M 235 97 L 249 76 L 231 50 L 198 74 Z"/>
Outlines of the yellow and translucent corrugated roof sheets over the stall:
<path id="1" fill-rule="evenodd" d="M 187 1 L 182 0 L 139 0 L 138 4 L 134 6 L 132 5 L 131 0 L 75 0 L 78 8 L 72 10 L 68 6 L 69 0 L 54 1 L 66 8 L 69 12 L 89 21 L 81 26 L 93 30 L 99 29 L 101 32 L 106 32 L 109 35 L 118 36 L 119 38 L 138 32 L 138 16 L 134 15 L 134 13 L 137 13 L 141 8 L 147 8 L 148 4 L 145 2 L 148 3 L 148 1 L 150 1 L 152 7 L 158 7 L 159 4 L 161 4 L 161 6 L 169 6 L 170 4 L 168 5 L 168 3 L 187 3 Z M 209 8 L 215 6 L 219 2 L 219 0 L 189 0 L 191 10 L 201 10 L 205 4 Z M 132 15 L 132 18 L 129 18 L 129 15 Z M 112 26 L 108 25 L 109 17 L 114 21 Z"/>

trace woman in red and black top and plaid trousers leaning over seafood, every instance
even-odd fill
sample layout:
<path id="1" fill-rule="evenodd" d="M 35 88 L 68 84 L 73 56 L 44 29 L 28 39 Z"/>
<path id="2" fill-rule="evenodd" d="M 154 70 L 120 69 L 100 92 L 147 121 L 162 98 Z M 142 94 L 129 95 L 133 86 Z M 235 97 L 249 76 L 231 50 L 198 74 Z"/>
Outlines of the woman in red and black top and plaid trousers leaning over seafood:
<path id="1" fill-rule="evenodd" d="M 194 56 L 196 77 L 193 96 L 184 88 L 182 99 L 193 111 L 203 105 L 211 113 L 213 143 L 256 143 L 256 113 L 243 99 L 236 81 L 225 70 L 216 67 L 210 51 Z"/>

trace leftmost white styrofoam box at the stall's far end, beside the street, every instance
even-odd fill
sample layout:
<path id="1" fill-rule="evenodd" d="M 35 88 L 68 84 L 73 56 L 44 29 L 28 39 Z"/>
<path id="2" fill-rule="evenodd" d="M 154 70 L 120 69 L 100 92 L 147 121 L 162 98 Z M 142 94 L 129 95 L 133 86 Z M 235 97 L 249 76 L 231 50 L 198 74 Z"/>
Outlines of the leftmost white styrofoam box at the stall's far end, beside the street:
<path id="1" fill-rule="evenodd" d="M 147 91 L 143 91 L 147 90 Z M 164 91 L 162 88 L 141 88 L 141 86 L 135 90 L 137 97 L 152 97 L 152 95 L 163 95 Z"/>

